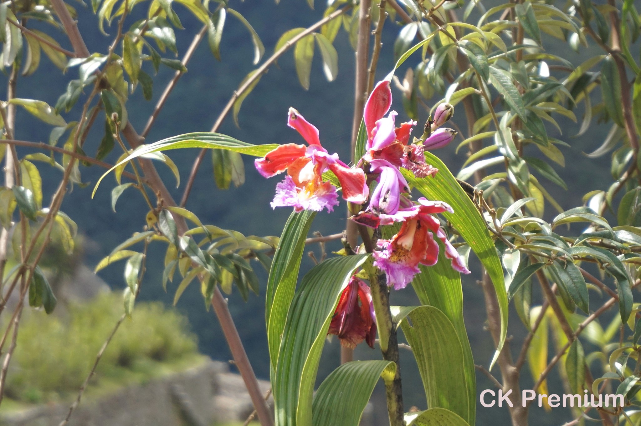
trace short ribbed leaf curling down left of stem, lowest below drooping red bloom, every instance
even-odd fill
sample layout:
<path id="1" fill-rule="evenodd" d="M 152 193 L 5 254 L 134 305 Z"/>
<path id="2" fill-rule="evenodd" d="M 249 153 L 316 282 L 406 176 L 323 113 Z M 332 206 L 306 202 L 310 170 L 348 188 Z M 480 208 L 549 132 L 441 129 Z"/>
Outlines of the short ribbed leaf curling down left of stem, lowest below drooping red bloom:
<path id="1" fill-rule="evenodd" d="M 379 377 L 394 379 L 392 361 L 350 361 L 320 384 L 312 404 L 313 426 L 358 426 Z"/>

